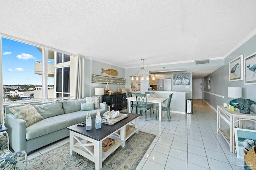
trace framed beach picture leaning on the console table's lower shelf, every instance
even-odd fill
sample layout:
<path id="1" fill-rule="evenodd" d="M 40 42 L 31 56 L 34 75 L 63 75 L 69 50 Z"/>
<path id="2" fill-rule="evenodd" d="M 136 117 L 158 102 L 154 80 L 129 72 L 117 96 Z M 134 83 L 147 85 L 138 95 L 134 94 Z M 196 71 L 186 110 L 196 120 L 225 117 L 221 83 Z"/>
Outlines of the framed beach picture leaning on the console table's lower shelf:
<path id="1" fill-rule="evenodd" d="M 253 141 L 256 141 L 256 131 L 250 130 L 250 129 L 240 129 L 240 128 L 234 128 L 235 132 L 235 142 L 236 142 L 236 156 L 238 158 L 244 158 L 244 155 L 246 152 L 245 147 L 249 147 L 248 144 L 253 143 Z M 251 139 L 252 141 L 246 141 L 246 139 Z M 246 142 L 246 143 L 244 143 Z M 249 144 L 249 145 L 250 145 Z"/>

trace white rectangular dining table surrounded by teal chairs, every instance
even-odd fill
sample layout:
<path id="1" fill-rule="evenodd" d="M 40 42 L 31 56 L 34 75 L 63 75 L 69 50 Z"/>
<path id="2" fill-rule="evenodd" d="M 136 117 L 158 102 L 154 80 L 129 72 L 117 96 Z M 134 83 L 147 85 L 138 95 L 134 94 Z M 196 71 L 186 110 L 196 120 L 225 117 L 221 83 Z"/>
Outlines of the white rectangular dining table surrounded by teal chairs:
<path id="1" fill-rule="evenodd" d="M 136 102 L 136 96 L 126 98 L 128 100 L 128 112 L 131 113 L 131 101 Z M 162 121 L 162 105 L 165 103 L 167 98 L 155 98 L 155 97 L 149 97 L 147 98 L 147 102 L 149 103 L 156 103 L 158 104 L 159 109 L 159 121 Z M 163 114 L 164 117 L 164 114 Z"/>

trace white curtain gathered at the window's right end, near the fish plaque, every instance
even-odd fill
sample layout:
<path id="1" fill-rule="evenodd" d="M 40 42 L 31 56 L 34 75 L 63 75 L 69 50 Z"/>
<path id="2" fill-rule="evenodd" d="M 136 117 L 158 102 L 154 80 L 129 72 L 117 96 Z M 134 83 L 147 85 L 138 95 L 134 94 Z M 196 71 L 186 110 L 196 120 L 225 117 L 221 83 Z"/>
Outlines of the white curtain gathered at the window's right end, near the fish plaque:
<path id="1" fill-rule="evenodd" d="M 85 98 L 84 94 L 84 56 L 77 55 L 76 59 L 76 96 L 75 98 Z"/>

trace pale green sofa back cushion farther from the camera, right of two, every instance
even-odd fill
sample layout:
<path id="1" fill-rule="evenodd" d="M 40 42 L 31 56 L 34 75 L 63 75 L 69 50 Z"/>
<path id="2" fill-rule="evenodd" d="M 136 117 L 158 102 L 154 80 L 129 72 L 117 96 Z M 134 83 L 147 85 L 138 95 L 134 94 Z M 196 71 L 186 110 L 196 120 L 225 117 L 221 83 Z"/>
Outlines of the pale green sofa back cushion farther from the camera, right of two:
<path id="1" fill-rule="evenodd" d="M 86 99 L 62 101 L 62 107 L 63 107 L 64 113 L 80 111 L 82 103 L 86 103 Z"/>

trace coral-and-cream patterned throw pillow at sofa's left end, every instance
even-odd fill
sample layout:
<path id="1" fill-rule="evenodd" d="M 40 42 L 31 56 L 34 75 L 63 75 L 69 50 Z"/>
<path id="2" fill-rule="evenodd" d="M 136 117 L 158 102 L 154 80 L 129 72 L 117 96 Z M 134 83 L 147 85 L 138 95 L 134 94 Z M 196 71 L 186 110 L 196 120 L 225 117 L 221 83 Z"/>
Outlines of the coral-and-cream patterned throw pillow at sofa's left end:
<path id="1" fill-rule="evenodd" d="M 44 119 L 36 109 L 30 105 L 24 105 L 20 107 L 12 107 L 10 111 L 16 115 L 16 117 L 23 119 L 27 123 L 27 127 L 33 125 L 34 123 Z"/>

